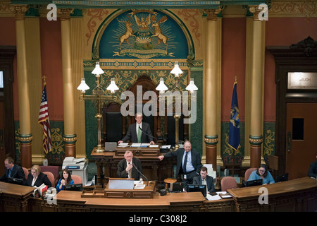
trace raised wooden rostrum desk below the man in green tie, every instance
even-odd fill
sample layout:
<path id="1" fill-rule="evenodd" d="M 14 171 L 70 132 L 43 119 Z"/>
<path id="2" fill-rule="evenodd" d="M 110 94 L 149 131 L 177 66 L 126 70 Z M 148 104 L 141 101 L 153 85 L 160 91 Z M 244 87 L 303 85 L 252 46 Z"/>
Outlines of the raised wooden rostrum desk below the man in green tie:
<path id="1" fill-rule="evenodd" d="M 118 148 L 117 148 L 118 149 Z M 103 186 L 101 174 L 104 171 L 104 177 L 118 177 L 118 162 L 124 159 L 123 150 L 132 150 L 135 153 L 134 157 L 139 158 L 142 162 L 143 174 L 149 181 L 162 181 L 166 178 L 173 177 L 173 165 L 176 165 L 174 158 L 168 157 L 163 161 L 159 160 L 159 153 L 157 148 L 120 148 L 118 152 L 103 152 L 97 153 L 96 148 L 92 150 L 92 158 L 96 161 L 97 165 L 97 185 Z M 146 152 L 148 155 L 144 155 L 143 150 L 154 150 L 152 152 Z M 116 153 L 118 155 L 116 155 Z"/>

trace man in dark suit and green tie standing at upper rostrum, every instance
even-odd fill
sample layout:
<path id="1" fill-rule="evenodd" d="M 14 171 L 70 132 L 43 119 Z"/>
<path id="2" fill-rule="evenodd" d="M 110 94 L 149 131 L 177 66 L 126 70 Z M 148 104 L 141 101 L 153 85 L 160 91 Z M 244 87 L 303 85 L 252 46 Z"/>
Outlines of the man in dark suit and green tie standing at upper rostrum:
<path id="1" fill-rule="evenodd" d="M 142 122 L 142 119 L 142 113 L 135 114 L 135 120 L 137 122 L 129 126 L 127 135 L 122 141 L 118 141 L 118 144 L 126 141 L 154 144 L 150 126 L 147 122 Z"/>

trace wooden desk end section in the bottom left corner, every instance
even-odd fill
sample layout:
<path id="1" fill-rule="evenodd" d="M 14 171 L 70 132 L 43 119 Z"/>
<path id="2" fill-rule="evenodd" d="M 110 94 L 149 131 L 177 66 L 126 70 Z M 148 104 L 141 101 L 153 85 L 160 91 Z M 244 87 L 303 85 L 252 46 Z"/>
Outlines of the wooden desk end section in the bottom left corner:
<path id="1" fill-rule="evenodd" d="M 0 212 L 25 212 L 29 210 L 34 188 L 17 184 L 0 182 Z"/>

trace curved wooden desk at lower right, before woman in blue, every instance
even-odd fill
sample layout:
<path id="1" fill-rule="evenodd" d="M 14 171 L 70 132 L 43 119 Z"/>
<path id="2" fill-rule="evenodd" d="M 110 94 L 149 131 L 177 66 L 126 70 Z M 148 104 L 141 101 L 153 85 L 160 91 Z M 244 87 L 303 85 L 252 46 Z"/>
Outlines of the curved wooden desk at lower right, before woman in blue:
<path id="1" fill-rule="evenodd" d="M 259 204 L 259 196 L 263 194 L 263 191 L 259 191 L 261 187 L 268 189 L 268 204 Z M 235 200 L 237 211 L 306 212 L 317 210 L 317 180 L 310 177 L 262 186 L 228 189 L 228 192 Z"/>

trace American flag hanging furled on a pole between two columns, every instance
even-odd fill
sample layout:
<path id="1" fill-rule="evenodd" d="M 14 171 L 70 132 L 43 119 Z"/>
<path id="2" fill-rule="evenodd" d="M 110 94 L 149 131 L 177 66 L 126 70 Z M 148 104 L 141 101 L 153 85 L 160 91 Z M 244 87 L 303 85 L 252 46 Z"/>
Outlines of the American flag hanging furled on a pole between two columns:
<path id="1" fill-rule="evenodd" d="M 42 92 L 38 122 L 43 126 L 43 148 L 44 152 L 47 154 L 51 150 L 51 130 L 49 127 L 49 106 L 47 105 L 46 84 L 44 84 Z"/>

